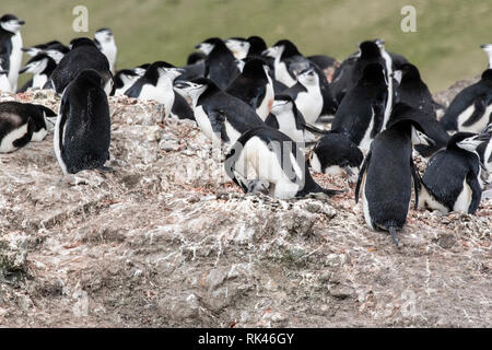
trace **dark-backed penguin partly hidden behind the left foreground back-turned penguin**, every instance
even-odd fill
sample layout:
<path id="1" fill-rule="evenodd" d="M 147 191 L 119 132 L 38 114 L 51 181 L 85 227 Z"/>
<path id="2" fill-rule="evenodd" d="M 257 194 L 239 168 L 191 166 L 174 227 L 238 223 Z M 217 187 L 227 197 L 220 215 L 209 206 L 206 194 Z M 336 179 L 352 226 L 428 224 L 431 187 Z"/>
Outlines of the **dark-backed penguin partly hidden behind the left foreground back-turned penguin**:
<path id="1" fill-rule="evenodd" d="M 104 90 L 109 95 L 113 74 L 106 56 L 87 37 L 72 39 L 70 46 L 70 51 L 63 56 L 50 77 L 56 92 L 62 93 L 65 88 L 83 70 L 94 69 L 105 80 Z"/>

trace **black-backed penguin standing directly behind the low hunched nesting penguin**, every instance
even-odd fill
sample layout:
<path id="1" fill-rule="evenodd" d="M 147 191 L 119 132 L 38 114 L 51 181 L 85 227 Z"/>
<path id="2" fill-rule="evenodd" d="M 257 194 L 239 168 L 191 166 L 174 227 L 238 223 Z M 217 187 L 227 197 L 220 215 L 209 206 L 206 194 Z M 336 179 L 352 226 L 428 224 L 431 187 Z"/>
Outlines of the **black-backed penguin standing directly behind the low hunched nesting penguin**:
<path id="1" fill-rule="evenodd" d="M 366 66 L 361 80 L 342 100 L 331 130 L 347 135 L 361 150 L 367 151 L 383 128 L 387 94 L 383 67 Z"/>

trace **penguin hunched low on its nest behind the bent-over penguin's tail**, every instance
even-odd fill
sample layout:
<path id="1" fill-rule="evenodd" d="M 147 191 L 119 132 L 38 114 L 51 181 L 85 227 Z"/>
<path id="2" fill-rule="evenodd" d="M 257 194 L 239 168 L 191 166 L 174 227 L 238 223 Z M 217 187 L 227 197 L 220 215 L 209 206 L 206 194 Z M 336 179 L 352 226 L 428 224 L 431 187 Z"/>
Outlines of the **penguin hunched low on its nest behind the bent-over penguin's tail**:
<path id="1" fill-rule="evenodd" d="M 345 135 L 338 132 L 323 136 L 309 153 L 313 170 L 335 176 L 347 174 L 352 182 L 356 182 L 363 160 L 362 151 Z"/>

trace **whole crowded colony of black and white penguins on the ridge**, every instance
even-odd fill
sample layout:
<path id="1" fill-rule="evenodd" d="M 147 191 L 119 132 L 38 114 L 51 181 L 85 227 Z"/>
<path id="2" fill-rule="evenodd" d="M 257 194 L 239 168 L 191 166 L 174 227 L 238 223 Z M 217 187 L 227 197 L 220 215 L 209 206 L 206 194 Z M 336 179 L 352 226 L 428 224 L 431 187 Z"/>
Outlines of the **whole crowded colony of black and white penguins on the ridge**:
<path id="1" fill-rule="evenodd" d="M 306 57 L 288 39 L 212 37 L 184 67 L 157 60 L 116 70 L 112 30 L 23 47 L 15 15 L 0 18 L 0 91 L 52 89 L 57 113 L 0 103 L 0 153 L 54 131 L 62 174 L 113 172 L 108 95 L 153 100 L 164 118 L 192 119 L 224 154 L 226 174 L 244 192 L 278 198 L 345 189 L 319 186 L 311 170 L 347 176 L 362 197 L 367 225 L 397 231 L 414 208 L 475 213 L 492 180 L 492 44 L 489 67 L 446 108 L 433 101 L 419 69 L 386 51 L 383 39 L 359 44 L 338 62 Z M 21 68 L 22 54 L 31 58 Z M 32 79 L 17 88 L 20 73 Z M 442 116 L 442 117 L 441 117 Z M 413 158 L 427 161 L 420 174 Z"/>

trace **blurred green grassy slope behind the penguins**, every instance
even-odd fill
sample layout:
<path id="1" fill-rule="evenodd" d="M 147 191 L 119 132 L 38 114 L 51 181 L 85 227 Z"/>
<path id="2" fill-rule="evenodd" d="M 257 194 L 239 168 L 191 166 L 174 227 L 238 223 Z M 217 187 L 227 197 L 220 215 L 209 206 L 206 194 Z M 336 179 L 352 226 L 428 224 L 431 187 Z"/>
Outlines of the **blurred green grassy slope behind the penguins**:
<path id="1" fill-rule="evenodd" d="M 72 30 L 78 4 L 89 9 L 89 33 Z M 400 30 L 405 4 L 417 9 L 417 33 Z M 256 34 L 269 45 L 290 38 L 304 55 L 340 60 L 359 42 L 382 37 L 388 50 L 419 67 L 432 91 L 481 73 L 488 61 L 479 44 L 492 42 L 492 3 L 482 0 L 2 0 L 2 11 L 26 21 L 25 46 L 55 38 L 68 43 L 110 27 L 118 68 L 160 59 L 183 65 L 210 36 Z"/>

